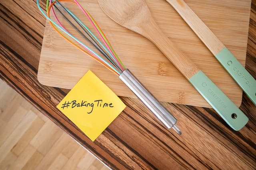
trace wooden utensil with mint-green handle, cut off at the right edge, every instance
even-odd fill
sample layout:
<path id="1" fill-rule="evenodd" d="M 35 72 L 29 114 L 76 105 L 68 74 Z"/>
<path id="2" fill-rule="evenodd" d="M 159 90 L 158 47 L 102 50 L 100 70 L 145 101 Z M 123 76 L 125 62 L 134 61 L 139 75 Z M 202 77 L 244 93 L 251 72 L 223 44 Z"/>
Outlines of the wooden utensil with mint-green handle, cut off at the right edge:
<path id="1" fill-rule="evenodd" d="M 256 105 L 256 80 L 239 63 L 225 45 L 214 35 L 184 0 L 166 0 L 180 14 L 236 83 Z"/>

